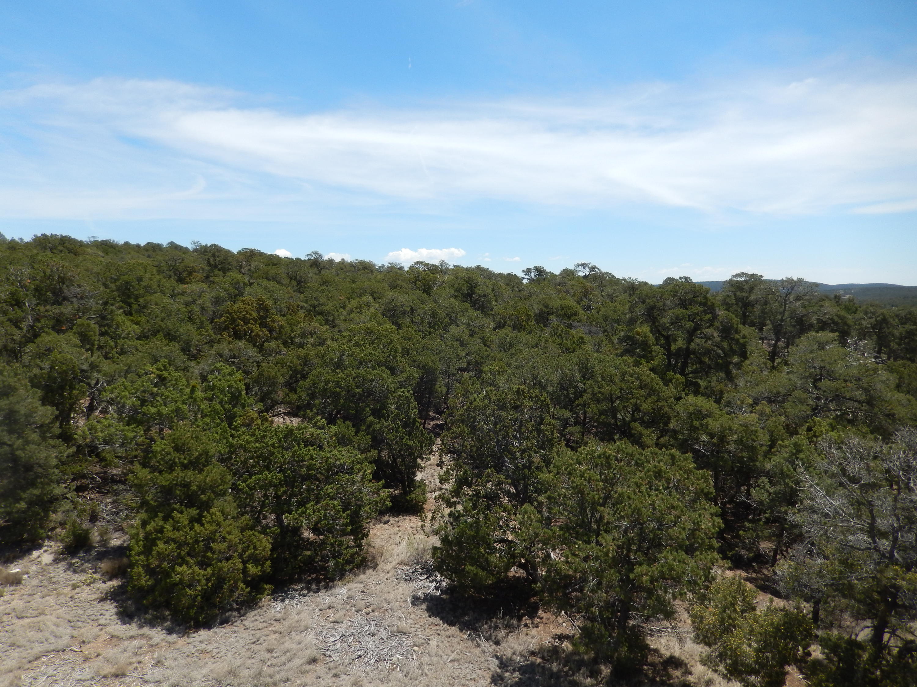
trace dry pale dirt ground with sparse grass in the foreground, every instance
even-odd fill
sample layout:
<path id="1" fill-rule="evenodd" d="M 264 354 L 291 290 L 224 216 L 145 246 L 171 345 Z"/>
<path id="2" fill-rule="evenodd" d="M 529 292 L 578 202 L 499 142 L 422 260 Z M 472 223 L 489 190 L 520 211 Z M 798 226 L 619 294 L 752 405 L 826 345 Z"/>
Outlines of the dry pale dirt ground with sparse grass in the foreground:
<path id="1" fill-rule="evenodd" d="M 425 466 L 432 496 L 436 463 Z M 537 608 L 451 599 L 429 565 L 428 518 L 380 518 L 369 567 L 325 589 L 278 590 L 241 616 L 194 632 L 130 617 L 108 549 L 56 544 L 12 565 L 26 573 L 0 597 L 0 687 L 54 685 L 585 686 L 600 673 L 564 660 L 569 619 Z M 508 608 L 508 610 L 507 610 Z M 622 684 L 724 687 L 698 663 L 687 632 L 661 629 L 650 670 Z M 614 682 L 617 683 L 617 682 Z"/>

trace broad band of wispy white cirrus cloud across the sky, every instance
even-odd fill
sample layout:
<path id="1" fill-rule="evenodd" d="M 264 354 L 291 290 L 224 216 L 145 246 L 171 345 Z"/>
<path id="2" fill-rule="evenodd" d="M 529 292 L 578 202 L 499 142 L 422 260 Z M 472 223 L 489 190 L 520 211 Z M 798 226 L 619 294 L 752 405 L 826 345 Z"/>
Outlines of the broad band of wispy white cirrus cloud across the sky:
<path id="1" fill-rule="evenodd" d="M 294 217 L 316 206 L 482 199 L 708 213 L 917 209 L 912 77 L 657 84 L 562 103 L 316 114 L 252 103 L 165 81 L 0 93 L 0 215 Z"/>

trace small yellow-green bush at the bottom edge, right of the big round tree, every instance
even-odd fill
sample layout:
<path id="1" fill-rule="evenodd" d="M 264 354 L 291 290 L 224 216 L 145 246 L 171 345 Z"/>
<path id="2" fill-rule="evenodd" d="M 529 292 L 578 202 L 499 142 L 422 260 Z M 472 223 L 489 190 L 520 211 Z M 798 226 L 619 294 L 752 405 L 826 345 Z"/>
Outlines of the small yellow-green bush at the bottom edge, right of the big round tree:
<path id="1" fill-rule="evenodd" d="M 705 665 L 745 687 L 782 687 L 787 667 L 808 659 L 815 638 L 799 609 L 755 607 L 755 589 L 740 577 L 714 582 L 691 606 L 694 638 L 709 650 Z"/>

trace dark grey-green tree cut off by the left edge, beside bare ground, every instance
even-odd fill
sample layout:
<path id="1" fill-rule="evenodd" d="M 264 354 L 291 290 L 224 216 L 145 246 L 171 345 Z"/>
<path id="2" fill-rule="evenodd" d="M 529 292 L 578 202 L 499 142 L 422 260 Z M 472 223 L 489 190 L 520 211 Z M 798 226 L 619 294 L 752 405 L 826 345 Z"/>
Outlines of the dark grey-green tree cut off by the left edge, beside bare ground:
<path id="1" fill-rule="evenodd" d="M 38 540 L 61 496 L 65 447 L 54 410 L 15 368 L 0 365 L 0 543 Z"/>

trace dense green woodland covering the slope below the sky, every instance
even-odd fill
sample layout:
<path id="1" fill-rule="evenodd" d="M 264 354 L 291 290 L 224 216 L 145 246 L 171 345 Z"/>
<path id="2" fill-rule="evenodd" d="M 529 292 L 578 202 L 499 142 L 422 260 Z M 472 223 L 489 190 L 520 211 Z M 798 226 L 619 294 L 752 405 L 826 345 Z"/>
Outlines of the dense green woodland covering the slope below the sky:
<path id="1" fill-rule="evenodd" d="M 125 529 L 129 593 L 201 625 L 359 567 L 438 435 L 455 594 L 528 594 L 616 671 L 683 599 L 743 684 L 915 684 L 917 310 L 523 275 L 0 239 L 0 540 Z"/>

